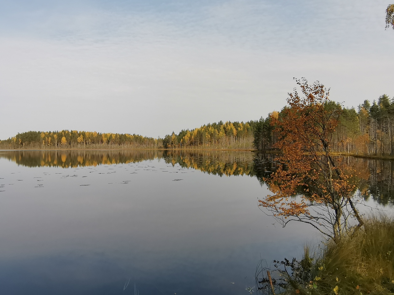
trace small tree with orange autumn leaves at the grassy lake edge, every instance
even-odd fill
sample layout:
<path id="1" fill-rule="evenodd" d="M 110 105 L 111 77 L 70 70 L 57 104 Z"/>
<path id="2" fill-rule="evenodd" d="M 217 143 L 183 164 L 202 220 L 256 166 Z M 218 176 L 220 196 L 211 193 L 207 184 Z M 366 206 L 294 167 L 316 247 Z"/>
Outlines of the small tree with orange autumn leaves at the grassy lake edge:
<path id="1" fill-rule="evenodd" d="M 282 153 L 277 157 L 277 170 L 264 179 L 272 194 L 259 200 L 259 205 L 283 226 L 302 221 L 338 240 L 352 225 L 363 225 L 354 200 L 357 175 L 330 154 L 342 109 L 330 103 L 329 89 L 318 81 L 308 85 L 303 78 L 296 83 L 303 96 L 294 89 L 288 107 L 271 117 L 278 135 L 273 147 Z"/>

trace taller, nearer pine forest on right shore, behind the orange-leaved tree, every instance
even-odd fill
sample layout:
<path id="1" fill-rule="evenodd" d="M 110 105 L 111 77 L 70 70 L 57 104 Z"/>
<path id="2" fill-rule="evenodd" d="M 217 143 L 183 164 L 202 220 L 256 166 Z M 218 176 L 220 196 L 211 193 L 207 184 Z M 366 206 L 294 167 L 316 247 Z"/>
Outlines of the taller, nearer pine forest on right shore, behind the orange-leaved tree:
<path id="1" fill-rule="evenodd" d="M 358 110 L 326 101 L 324 108 L 338 114 L 338 124 L 330 140 L 331 151 L 358 155 L 394 155 L 394 100 L 386 94 L 372 104 L 365 100 Z M 253 144 L 257 150 L 268 151 L 278 142 L 278 129 L 273 123 L 286 116 L 289 107 L 271 112 L 254 124 Z"/>

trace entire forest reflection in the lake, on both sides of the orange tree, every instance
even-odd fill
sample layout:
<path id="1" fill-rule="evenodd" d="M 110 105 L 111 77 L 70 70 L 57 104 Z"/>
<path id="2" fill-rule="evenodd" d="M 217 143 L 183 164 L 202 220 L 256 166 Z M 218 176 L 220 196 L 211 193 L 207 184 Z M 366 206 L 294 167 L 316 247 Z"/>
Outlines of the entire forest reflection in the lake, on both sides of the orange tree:
<path id="1" fill-rule="evenodd" d="M 249 151 L 209 150 L 56 150 L 56 151 L 0 151 L 18 165 L 28 167 L 76 168 L 111 164 L 128 164 L 144 160 L 163 159 L 165 163 L 192 168 L 219 176 L 248 175 L 264 184 L 279 164 L 276 155 Z M 355 193 L 365 200 L 372 198 L 386 205 L 394 200 L 394 161 L 341 157 L 344 165 L 355 169 Z"/>

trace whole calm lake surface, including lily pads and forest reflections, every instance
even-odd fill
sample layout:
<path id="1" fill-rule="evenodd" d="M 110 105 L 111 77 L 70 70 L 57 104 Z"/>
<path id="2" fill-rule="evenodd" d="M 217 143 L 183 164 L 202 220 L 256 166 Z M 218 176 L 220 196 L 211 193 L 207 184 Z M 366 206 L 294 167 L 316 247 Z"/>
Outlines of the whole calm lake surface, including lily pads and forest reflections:
<path id="1" fill-rule="evenodd" d="M 391 208 L 392 162 L 348 160 L 367 203 Z M 248 294 L 260 257 L 320 238 L 258 208 L 273 166 L 250 152 L 0 151 L 0 293 Z"/>

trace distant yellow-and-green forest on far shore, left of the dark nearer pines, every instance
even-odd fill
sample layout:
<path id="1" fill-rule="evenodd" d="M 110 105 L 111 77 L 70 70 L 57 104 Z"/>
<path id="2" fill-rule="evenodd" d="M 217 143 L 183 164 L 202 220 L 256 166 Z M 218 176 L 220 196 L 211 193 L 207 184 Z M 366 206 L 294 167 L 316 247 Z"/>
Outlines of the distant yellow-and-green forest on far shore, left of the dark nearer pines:
<path id="1" fill-rule="evenodd" d="M 219 122 L 182 130 L 178 135 L 141 135 L 76 130 L 28 131 L 0 142 L 3 149 L 253 149 L 257 121 Z"/>

